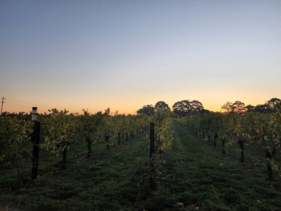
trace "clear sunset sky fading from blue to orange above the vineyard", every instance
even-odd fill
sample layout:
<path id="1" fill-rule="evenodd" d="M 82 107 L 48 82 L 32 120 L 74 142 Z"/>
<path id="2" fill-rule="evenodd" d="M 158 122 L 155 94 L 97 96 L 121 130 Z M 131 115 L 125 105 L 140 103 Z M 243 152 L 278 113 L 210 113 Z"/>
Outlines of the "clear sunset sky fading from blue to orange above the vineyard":
<path id="1" fill-rule="evenodd" d="M 0 0 L 3 111 L 281 98 L 280 11 L 280 0 Z"/>

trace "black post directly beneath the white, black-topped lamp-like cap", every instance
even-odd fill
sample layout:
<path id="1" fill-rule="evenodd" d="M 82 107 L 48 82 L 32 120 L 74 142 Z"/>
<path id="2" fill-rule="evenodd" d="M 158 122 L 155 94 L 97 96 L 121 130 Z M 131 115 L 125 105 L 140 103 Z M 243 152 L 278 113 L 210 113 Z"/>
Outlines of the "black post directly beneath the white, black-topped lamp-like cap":
<path id="1" fill-rule="evenodd" d="M 35 121 L 31 179 L 36 179 L 38 175 L 39 134 L 40 134 L 40 122 Z"/>

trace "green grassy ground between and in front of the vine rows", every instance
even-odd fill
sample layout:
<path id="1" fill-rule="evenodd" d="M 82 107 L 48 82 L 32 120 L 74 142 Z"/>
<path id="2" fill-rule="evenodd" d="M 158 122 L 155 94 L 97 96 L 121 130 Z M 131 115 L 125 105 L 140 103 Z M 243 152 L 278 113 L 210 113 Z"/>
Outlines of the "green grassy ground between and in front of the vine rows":
<path id="1" fill-rule="evenodd" d="M 60 168 L 61 157 L 41 152 L 41 175 L 21 189 L 13 188 L 12 170 L 0 163 L 2 209 L 281 210 L 281 172 L 267 179 L 264 154 L 256 146 L 245 147 L 241 164 L 236 146 L 222 154 L 219 141 L 214 148 L 176 122 L 173 130 L 163 177 L 149 197 L 132 182 L 134 166 L 149 154 L 144 134 L 110 150 L 98 141 L 90 159 L 87 145 L 78 143 L 67 152 L 67 170 Z M 280 166 L 280 158 L 275 160 Z"/>

